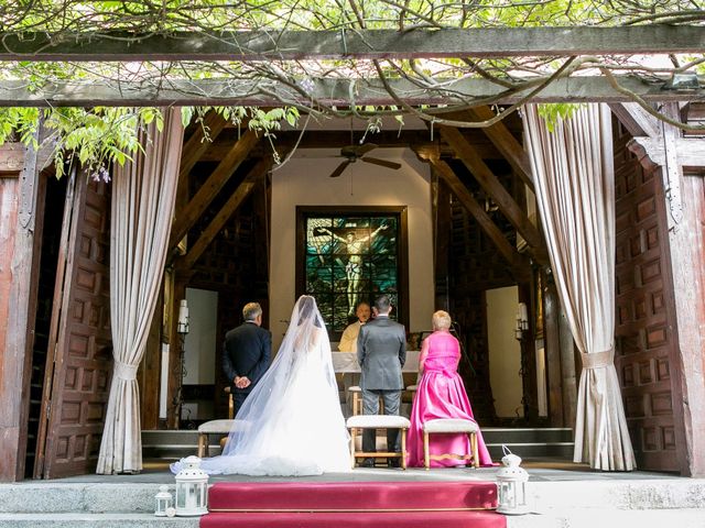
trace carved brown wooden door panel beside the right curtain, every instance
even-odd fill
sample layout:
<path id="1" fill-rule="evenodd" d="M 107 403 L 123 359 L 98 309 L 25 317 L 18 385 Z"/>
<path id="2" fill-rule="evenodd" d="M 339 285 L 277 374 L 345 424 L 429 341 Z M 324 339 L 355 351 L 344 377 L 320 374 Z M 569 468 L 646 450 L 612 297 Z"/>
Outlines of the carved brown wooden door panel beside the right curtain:
<path id="1" fill-rule="evenodd" d="M 677 471 L 682 433 L 676 337 L 661 169 L 643 168 L 615 130 L 616 342 L 615 363 L 640 470 Z"/>

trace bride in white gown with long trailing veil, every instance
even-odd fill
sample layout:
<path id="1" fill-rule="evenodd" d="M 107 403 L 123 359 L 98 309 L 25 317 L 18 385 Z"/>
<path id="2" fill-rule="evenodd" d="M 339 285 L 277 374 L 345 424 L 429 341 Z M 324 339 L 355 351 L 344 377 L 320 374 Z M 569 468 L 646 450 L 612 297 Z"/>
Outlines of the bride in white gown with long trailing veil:
<path id="1" fill-rule="evenodd" d="M 238 411 L 223 454 L 204 459 L 200 468 L 279 476 L 344 472 L 350 470 L 348 442 L 328 336 L 316 300 L 303 295 L 272 366 Z"/>

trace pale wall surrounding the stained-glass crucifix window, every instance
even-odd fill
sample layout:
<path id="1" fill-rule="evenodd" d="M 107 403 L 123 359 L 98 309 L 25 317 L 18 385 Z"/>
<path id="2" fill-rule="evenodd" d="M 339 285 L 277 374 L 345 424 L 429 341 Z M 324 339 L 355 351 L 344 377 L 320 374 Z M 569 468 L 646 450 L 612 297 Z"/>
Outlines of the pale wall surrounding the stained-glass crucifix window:
<path id="1" fill-rule="evenodd" d="M 328 175 L 343 161 L 338 150 L 306 150 L 272 175 L 270 329 L 281 343 L 295 299 L 296 206 L 406 206 L 409 220 L 410 331 L 427 330 L 434 311 L 433 230 L 429 168 L 406 148 L 370 155 L 402 164 L 399 170 L 356 162 L 343 176 Z"/>

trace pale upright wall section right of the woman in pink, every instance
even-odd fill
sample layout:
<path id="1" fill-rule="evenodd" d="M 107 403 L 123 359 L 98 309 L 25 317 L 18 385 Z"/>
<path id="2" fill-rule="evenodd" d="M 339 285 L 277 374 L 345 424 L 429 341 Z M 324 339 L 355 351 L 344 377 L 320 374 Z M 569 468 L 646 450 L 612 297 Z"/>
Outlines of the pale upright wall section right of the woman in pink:
<path id="1" fill-rule="evenodd" d="M 489 381 L 499 417 L 523 416 L 521 348 L 514 339 L 517 323 L 517 286 L 487 290 L 487 339 Z"/>

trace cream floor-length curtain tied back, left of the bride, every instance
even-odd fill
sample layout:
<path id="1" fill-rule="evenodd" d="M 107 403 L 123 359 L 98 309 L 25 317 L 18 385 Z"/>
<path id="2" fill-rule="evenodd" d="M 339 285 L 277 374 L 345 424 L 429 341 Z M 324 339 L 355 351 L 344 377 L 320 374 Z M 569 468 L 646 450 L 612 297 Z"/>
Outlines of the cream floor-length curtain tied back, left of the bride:
<path id="1" fill-rule="evenodd" d="M 183 129 L 178 108 L 163 109 L 140 143 L 144 153 L 116 167 L 110 223 L 110 324 L 115 367 L 98 457 L 99 474 L 142 469 L 137 369 L 144 355 L 169 244 Z"/>

